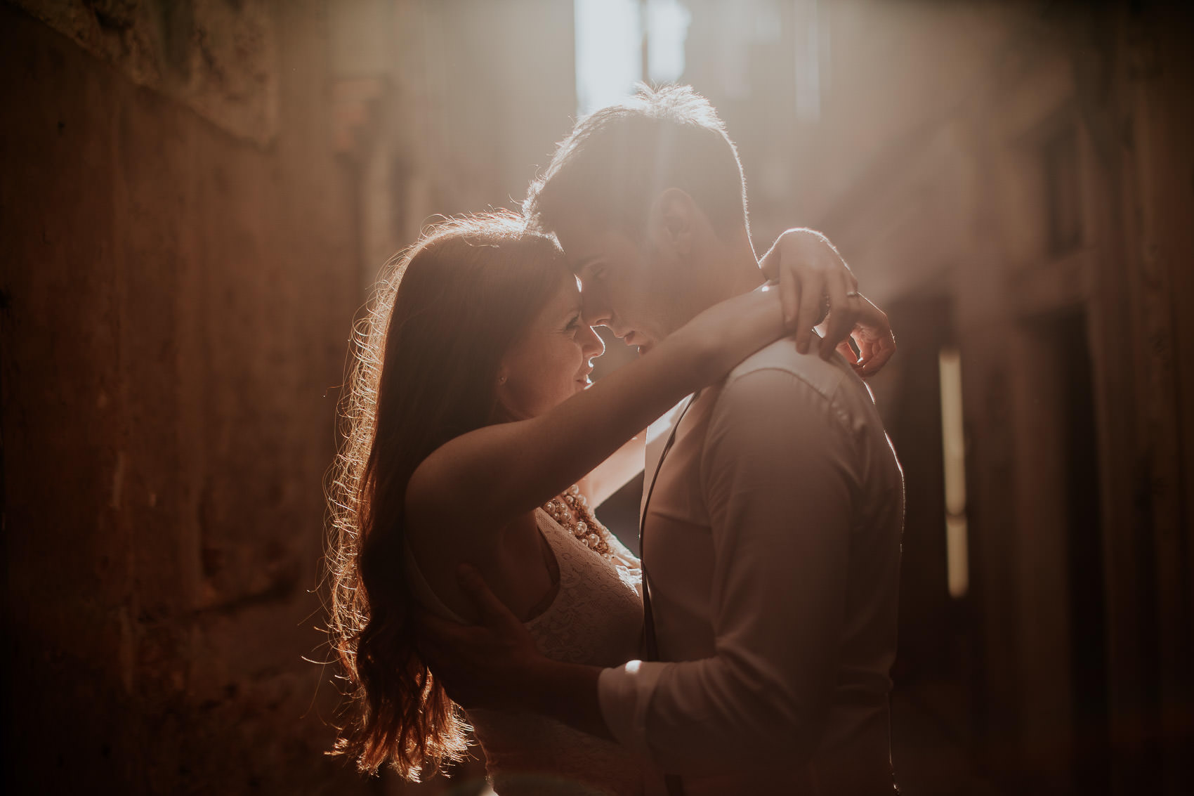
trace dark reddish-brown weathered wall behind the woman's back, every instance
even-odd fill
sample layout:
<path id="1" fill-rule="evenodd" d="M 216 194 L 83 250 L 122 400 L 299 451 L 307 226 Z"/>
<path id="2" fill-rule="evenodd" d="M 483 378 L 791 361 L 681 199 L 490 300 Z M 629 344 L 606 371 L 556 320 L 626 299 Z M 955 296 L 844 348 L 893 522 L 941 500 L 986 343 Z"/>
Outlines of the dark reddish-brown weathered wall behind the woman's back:
<path id="1" fill-rule="evenodd" d="M 0 5 L 7 792 L 369 788 L 301 659 L 351 190 L 324 6 L 265 12 L 263 147 Z"/>

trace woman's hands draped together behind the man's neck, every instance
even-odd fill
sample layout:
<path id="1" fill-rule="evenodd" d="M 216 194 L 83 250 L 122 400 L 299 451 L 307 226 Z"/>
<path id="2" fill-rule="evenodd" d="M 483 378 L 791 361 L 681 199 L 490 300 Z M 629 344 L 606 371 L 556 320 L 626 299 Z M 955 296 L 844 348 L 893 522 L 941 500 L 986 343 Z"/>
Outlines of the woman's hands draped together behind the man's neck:
<path id="1" fill-rule="evenodd" d="M 796 349 L 801 354 L 808 350 L 813 326 L 823 322 L 821 356 L 829 359 L 837 350 L 858 375 L 874 375 L 896 353 L 887 316 L 858 293 L 858 280 L 821 233 L 788 229 L 759 265 L 769 280 L 780 282 L 783 317 L 788 329 L 796 332 Z M 849 338 L 858 348 L 857 356 Z"/>

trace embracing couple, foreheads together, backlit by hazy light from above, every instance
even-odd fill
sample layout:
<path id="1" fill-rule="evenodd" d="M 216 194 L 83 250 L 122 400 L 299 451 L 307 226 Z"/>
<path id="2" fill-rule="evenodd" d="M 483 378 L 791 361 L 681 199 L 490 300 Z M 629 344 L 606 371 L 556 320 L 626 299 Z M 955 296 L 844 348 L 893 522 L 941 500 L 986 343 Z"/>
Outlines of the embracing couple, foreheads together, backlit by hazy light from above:
<path id="1" fill-rule="evenodd" d="M 590 385 L 595 325 L 640 356 Z M 708 102 L 581 120 L 359 332 L 330 563 L 362 770 L 472 725 L 500 796 L 893 790 L 903 478 L 860 380 L 891 330 L 823 235 L 756 258 Z M 644 467 L 640 562 L 592 507 Z"/>

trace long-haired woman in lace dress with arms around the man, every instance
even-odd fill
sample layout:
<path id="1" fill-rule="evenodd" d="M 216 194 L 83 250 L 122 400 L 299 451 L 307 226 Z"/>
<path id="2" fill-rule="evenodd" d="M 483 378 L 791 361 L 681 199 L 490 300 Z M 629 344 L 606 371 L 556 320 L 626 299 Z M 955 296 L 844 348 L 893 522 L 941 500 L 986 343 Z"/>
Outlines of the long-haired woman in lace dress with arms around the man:
<path id="1" fill-rule="evenodd" d="M 419 659 L 412 610 L 474 619 L 455 577 L 468 563 L 544 654 L 635 657 L 638 562 L 573 484 L 623 483 L 635 458 L 611 454 L 636 430 L 786 332 L 776 292 L 739 296 L 589 390 L 603 347 L 576 280 L 512 215 L 426 235 L 361 331 L 332 495 L 332 635 L 353 698 L 339 749 L 413 779 L 460 759 L 467 727 Z M 614 743 L 528 715 L 468 718 L 504 796 L 639 792 Z"/>

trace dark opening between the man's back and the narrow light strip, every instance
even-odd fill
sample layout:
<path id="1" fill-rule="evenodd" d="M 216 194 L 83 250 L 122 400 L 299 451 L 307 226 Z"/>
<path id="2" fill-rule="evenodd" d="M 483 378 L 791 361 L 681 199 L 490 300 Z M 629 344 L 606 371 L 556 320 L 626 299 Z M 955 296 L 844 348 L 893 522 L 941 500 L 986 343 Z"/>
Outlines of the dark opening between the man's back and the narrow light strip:
<path id="1" fill-rule="evenodd" d="M 899 353 L 872 388 L 904 469 L 899 650 L 892 672 L 896 777 L 909 796 L 986 796 L 998 791 L 975 779 L 972 765 L 972 598 L 950 593 L 941 366 L 943 353 L 956 350 L 953 304 L 946 295 L 921 295 L 893 302 L 887 312 L 899 330 Z M 960 367 L 965 372 L 965 357 Z"/>

